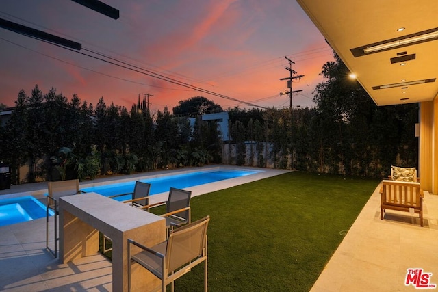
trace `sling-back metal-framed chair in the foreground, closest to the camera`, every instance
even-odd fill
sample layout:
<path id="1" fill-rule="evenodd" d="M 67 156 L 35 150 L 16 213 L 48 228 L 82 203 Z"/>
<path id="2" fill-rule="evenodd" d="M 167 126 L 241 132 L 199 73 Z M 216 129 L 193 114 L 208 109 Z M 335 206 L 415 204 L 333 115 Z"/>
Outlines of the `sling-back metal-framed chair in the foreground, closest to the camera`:
<path id="1" fill-rule="evenodd" d="M 204 291 L 207 291 L 207 226 L 210 217 L 187 224 L 170 232 L 166 241 L 154 245 L 152 248 L 128 239 L 128 291 L 131 291 L 131 265 L 138 263 L 151 271 L 161 280 L 161 291 L 166 291 L 166 286 L 172 284 L 192 267 L 204 262 Z M 131 254 L 131 246 L 136 245 L 141 249 L 136 254 Z M 138 279 L 140 280 L 140 279 Z M 159 288 L 159 287 L 157 287 Z M 156 290 L 156 289 L 155 289 Z"/>

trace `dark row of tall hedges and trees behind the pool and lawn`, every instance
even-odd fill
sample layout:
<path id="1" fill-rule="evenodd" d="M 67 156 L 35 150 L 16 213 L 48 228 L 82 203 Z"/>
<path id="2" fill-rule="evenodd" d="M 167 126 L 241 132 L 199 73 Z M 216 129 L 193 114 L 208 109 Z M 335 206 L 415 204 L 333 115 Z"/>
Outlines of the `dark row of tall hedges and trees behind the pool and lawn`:
<path id="1" fill-rule="evenodd" d="M 417 166 L 418 105 L 377 107 L 335 57 L 322 66 L 314 108 L 228 110 L 233 163 L 378 177 L 391 164 Z M 177 115 L 165 108 L 151 116 L 140 100 L 129 110 L 103 98 L 93 106 L 36 85 L 30 96 L 18 93 L 0 123 L 0 159 L 13 183 L 22 165 L 29 173 L 21 181 L 33 182 L 222 163 L 218 125 L 194 118 L 190 126 L 188 116 L 221 109 L 200 98 L 179 102 Z"/>

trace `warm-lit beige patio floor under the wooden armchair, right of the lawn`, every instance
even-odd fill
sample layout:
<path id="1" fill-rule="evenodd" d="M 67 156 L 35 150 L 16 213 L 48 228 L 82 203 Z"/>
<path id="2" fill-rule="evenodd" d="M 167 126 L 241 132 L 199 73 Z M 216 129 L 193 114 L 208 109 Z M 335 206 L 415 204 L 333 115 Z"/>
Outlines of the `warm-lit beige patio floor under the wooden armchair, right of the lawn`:
<path id="1" fill-rule="evenodd" d="M 387 210 L 381 220 L 380 185 L 313 285 L 313 292 L 416 291 L 407 269 L 431 273 L 438 284 L 438 196 L 425 192 L 424 227 L 415 214 Z M 423 291 L 438 291 L 422 289 Z"/>

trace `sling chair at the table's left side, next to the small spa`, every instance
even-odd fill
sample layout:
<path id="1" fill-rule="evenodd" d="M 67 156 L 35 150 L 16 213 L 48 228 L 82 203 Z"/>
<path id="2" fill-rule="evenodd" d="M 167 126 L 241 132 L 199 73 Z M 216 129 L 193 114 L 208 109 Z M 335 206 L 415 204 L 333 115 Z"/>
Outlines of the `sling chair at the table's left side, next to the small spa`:
<path id="1" fill-rule="evenodd" d="M 71 196 L 76 194 L 84 193 L 79 189 L 79 179 L 73 179 L 68 181 L 49 181 L 47 183 L 48 194 L 46 197 L 46 249 L 49 250 L 57 257 L 57 241 L 59 238 L 57 237 L 57 216 L 60 212 L 60 197 L 63 196 Z M 54 241 L 55 248 L 52 250 L 49 248 L 49 209 L 53 210 L 53 218 L 54 218 Z"/>

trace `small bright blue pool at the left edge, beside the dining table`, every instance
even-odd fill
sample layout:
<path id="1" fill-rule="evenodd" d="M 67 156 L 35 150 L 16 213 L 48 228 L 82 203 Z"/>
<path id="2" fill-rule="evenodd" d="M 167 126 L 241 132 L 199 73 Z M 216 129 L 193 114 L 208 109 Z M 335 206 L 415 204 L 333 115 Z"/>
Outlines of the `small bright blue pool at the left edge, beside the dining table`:
<path id="1" fill-rule="evenodd" d="M 0 200 L 0 226 L 45 217 L 46 207 L 32 196 Z M 53 211 L 50 210 L 50 215 Z"/>

